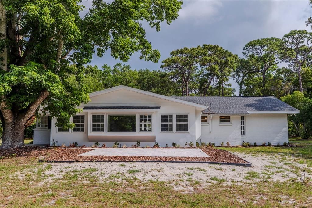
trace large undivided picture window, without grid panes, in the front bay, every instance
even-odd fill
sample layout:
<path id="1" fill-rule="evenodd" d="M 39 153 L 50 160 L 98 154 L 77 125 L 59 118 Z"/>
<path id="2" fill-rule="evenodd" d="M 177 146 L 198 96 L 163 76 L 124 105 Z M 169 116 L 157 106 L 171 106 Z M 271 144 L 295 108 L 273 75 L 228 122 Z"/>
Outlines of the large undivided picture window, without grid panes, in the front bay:
<path id="1" fill-rule="evenodd" d="M 136 115 L 108 115 L 108 132 L 136 132 Z"/>

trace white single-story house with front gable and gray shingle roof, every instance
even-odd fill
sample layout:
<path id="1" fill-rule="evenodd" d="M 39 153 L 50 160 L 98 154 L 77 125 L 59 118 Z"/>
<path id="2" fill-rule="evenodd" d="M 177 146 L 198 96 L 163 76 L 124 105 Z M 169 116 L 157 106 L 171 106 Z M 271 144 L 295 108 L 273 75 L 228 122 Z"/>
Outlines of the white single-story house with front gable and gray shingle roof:
<path id="1" fill-rule="evenodd" d="M 49 115 L 37 118 L 36 145 L 77 142 L 78 146 L 184 146 L 186 142 L 288 142 L 287 115 L 294 107 L 272 96 L 168 97 L 126 86 L 90 93 L 90 102 L 72 116 L 73 129 L 55 126 Z"/>

